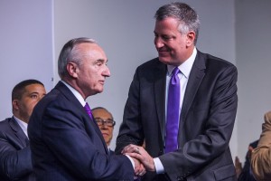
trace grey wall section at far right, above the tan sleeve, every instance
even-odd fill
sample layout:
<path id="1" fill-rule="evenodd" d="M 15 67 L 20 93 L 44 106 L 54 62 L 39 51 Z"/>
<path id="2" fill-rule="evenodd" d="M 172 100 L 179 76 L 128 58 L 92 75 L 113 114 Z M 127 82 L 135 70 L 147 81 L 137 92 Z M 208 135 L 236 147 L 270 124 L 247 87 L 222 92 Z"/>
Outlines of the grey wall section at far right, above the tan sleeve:
<path id="1" fill-rule="evenodd" d="M 264 114 L 271 110 L 271 1 L 238 0 L 238 155 L 261 133 Z"/>

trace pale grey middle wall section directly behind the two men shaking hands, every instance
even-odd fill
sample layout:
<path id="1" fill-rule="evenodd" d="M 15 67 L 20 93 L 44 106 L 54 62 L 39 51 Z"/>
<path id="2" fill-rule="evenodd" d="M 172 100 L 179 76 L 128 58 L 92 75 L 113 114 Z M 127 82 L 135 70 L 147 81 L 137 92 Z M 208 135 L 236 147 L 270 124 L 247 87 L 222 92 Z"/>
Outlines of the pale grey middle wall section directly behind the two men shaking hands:
<path id="1" fill-rule="evenodd" d="M 90 97 L 88 101 L 92 108 L 106 107 L 117 120 L 114 140 L 111 143 L 113 148 L 135 68 L 157 56 L 154 49 L 154 13 L 158 7 L 168 2 L 55 0 L 56 60 L 63 44 L 79 36 L 96 39 L 107 53 L 111 77 L 107 79 L 104 92 Z M 210 52 L 236 63 L 234 0 L 186 2 L 200 15 L 201 33 L 198 48 L 202 52 Z M 232 140 L 232 151 L 236 155 L 235 134 Z"/>

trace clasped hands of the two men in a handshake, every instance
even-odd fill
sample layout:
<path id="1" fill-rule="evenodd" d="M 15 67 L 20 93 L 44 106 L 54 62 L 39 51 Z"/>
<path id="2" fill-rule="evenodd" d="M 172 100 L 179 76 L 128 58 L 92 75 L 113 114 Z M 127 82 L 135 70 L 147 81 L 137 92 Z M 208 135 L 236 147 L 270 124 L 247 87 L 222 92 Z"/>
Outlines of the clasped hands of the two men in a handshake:
<path id="1" fill-rule="evenodd" d="M 145 148 L 130 144 L 121 153 L 134 160 L 135 176 L 145 175 L 146 170 L 155 171 L 154 158 L 145 151 Z"/>

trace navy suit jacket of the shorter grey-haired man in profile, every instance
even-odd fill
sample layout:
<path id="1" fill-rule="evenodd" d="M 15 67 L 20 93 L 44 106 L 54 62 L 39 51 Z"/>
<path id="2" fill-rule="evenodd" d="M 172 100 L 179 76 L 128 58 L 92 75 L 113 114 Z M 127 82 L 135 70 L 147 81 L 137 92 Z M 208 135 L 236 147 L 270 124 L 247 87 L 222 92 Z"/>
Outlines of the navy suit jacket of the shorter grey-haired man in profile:
<path id="1" fill-rule="evenodd" d="M 39 181 L 133 180 L 130 160 L 108 154 L 97 123 L 62 82 L 35 106 L 28 134 Z"/>

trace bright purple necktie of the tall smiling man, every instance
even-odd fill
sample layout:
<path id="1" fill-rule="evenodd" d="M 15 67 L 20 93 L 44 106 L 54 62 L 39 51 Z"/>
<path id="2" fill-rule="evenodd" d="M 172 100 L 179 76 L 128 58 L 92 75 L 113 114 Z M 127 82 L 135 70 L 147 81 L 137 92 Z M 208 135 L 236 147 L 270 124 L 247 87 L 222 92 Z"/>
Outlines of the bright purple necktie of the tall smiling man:
<path id="1" fill-rule="evenodd" d="M 166 136 L 165 152 L 171 152 L 178 148 L 179 109 L 180 109 L 180 79 L 178 67 L 173 69 L 169 82 L 167 96 Z"/>

